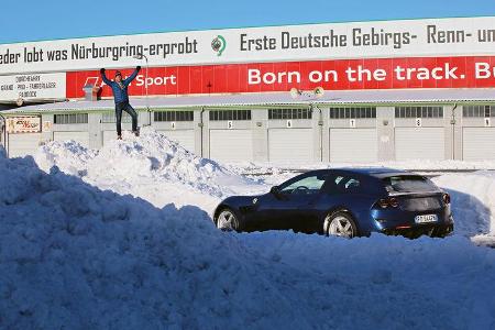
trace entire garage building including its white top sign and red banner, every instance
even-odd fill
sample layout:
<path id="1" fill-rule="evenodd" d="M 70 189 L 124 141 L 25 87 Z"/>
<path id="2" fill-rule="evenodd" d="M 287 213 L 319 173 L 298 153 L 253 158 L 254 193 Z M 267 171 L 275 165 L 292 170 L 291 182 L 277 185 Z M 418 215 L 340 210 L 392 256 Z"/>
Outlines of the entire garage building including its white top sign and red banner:
<path id="1" fill-rule="evenodd" d="M 12 157 L 50 141 L 105 146 L 116 117 L 99 68 L 113 78 L 140 65 L 129 86 L 140 125 L 202 157 L 287 166 L 495 161 L 493 26 L 495 16 L 482 16 L 0 44 L 0 54 L 75 43 L 124 50 L 119 58 L 0 66 L 0 141 Z M 464 40 L 438 42 L 452 31 Z M 270 48 L 246 47 L 264 36 Z M 155 52 L 167 43 L 184 52 Z M 130 130 L 125 113 L 122 122 Z"/>

